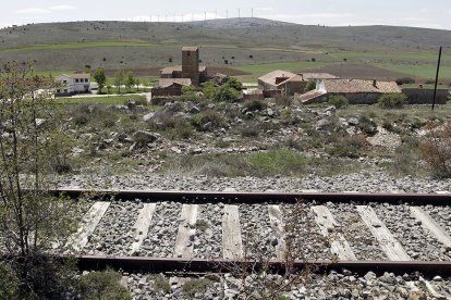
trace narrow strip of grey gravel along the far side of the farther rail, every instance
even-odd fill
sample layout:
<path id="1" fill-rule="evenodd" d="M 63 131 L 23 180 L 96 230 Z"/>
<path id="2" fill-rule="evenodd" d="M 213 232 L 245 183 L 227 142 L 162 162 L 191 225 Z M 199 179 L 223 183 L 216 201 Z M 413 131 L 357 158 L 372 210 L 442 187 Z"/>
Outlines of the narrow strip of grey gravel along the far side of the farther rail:
<path id="1" fill-rule="evenodd" d="M 71 175 L 59 176 L 53 182 L 60 187 L 154 189 L 154 190 L 211 190 L 222 191 L 405 191 L 436 192 L 450 191 L 451 179 L 415 178 L 413 176 L 394 177 L 387 173 L 361 172 L 331 177 L 308 175 L 303 178 L 281 177 L 209 177 L 164 174 L 130 175 Z"/>

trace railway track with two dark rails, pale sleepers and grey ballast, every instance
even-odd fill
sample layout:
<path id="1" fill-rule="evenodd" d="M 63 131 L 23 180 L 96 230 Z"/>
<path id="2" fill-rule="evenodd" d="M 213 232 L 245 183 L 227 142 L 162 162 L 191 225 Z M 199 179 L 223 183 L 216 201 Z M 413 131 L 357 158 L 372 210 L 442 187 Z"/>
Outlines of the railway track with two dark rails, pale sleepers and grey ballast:
<path id="1" fill-rule="evenodd" d="M 280 274 L 289 257 L 290 270 L 308 265 L 318 274 L 451 276 L 448 192 L 54 192 L 90 195 L 65 249 L 81 270 Z M 435 298 L 451 297 L 425 283 Z"/>

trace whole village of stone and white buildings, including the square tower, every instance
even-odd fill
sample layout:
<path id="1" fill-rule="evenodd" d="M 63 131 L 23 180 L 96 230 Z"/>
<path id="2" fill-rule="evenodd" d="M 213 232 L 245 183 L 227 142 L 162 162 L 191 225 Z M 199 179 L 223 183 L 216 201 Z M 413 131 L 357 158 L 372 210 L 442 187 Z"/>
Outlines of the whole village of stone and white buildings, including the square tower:
<path id="1" fill-rule="evenodd" d="M 158 84 L 150 89 L 149 99 L 162 101 L 182 97 L 183 88 L 194 88 L 202 93 L 202 87 L 207 82 L 216 86 L 224 84 L 229 76 L 226 74 L 211 74 L 208 66 L 200 65 L 198 47 L 182 48 L 182 65 L 167 66 L 160 70 Z M 57 82 L 61 88 L 58 96 L 80 93 L 96 93 L 98 83 L 92 74 L 80 73 L 58 76 Z M 344 97 L 349 104 L 375 104 L 383 95 L 405 95 L 409 104 L 431 104 L 434 89 L 410 85 L 403 87 L 402 83 L 378 79 L 339 78 L 328 73 L 292 73 L 275 70 L 258 78 L 257 83 L 245 83 L 237 99 L 268 99 L 277 97 L 291 97 L 302 104 L 326 103 L 331 96 Z M 138 86 L 139 84 L 137 84 Z M 133 84 L 135 86 L 135 84 Z M 190 89 L 193 91 L 193 89 Z M 435 103 L 444 104 L 448 100 L 448 89 L 437 91 Z"/>

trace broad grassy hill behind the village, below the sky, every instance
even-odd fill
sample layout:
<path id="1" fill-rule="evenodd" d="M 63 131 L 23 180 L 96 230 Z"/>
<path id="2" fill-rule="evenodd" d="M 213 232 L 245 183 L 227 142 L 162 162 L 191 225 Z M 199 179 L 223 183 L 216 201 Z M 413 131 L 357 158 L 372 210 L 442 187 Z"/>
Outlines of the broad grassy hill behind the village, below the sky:
<path id="1" fill-rule="evenodd" d="M 0 62 L 32 59 L 39 71 L 75 71 L 86 65 L 155 70 L 180 63 L 184 45 L 200 47 L 203 64 L 251 70 L 249 78 L 280 65 L 293 71 L 327 71 L 330 65 L 345 76 L 348 64 L 385 70 L 387 73 L 379 77 L 401 74 L 428 78 L 434 76 L 436 52 L 442 45 L 442 77 L 451 78 L 449 30 L 325 27 L 263 18 L 71 22 L 9 27 L 0 29 Z"/>

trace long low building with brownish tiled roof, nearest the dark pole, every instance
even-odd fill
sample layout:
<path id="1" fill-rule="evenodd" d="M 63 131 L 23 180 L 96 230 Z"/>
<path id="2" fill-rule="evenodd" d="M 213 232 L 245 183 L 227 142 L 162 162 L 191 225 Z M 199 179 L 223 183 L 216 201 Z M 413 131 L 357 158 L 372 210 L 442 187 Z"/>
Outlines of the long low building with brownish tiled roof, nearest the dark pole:
<path id="1" fill-rule="evenodd" d="M 351 104 L 374 104 L 383 93 L 401 93 L 394 82 L 378 82 L 376 79 L 320 79 L 316 89 L 296 98 L 303 103 L 326 102 L 331 95 L 348 98 Z"/>

